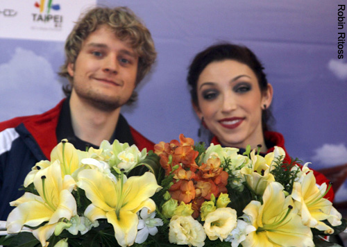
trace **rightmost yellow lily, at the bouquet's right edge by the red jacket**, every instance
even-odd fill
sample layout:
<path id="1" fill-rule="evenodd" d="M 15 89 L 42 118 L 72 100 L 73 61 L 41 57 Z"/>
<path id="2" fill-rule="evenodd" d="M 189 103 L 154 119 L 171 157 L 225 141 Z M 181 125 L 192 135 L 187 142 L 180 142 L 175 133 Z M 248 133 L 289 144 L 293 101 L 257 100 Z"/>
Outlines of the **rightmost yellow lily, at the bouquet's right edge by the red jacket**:
<path id="1" fill-rule="evenodd" d="M 340 225 L 342 216 L 328 199 L 323 198 L 326 190 L 325 183 L 320 187 L 316 186 L 316 178 L 313 171 L 310 171 L 301 183 L 294 182 L 291 197 L 295 200 L 305 225 L 332 234 L 334 230 L 322 221 L 328 219 L 332 225 Z"/>

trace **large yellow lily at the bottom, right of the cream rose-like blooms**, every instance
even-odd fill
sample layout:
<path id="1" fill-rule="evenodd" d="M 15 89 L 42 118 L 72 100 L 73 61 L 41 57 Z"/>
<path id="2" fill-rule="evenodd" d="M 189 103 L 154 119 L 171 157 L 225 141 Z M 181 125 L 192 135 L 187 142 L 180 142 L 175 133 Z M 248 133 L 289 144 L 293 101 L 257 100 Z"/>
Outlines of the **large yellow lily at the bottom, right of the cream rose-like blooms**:
<path id="1" fill-rule="evenodd" d="M 244 213 L 257 229 L 248 234 L 242 246 L 314 246 L 312 232 L 303 225 L 290 196 L 285 198 L 283 187 L 271 182 L 262 196 L 263 204 L 251 201 Z"/>

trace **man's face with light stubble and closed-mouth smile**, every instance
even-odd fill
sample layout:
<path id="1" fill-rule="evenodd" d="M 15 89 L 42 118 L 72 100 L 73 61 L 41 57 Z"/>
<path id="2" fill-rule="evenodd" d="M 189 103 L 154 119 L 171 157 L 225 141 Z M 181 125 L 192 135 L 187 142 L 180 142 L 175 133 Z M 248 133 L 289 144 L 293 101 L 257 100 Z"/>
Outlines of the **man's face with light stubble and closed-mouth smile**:
<path id="1" fill-rule="evenodd" d="M 135 89 L 138 57 L 108 26 L 100 26 L 81 46 L 76 62 L 67 70 L 74 78 L 71 97 L 99 110 L 124 105 Z"/>

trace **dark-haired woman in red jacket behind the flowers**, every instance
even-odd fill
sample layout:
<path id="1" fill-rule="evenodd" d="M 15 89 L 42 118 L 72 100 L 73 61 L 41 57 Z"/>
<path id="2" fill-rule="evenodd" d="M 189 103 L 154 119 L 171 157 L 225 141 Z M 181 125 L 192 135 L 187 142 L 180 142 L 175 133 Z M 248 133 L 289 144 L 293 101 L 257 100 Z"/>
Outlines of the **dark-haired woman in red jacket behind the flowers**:
<path id="1" fill-rule="evenodd" d="M 241 150 L 251 145 L 264 154 L 280 146 L 290 162 L 285 139 L 269 127 L 273 88 L 250 49 L 229 43 L 208 47 L 195 56 L 187 81 L 201 128 L 212 133 L 209 142 Z M 328 184 L 323 174 L 314 171 L 314 175 L 319 185 Z M 334 199 L 332 189 L 325 198 Z"/>

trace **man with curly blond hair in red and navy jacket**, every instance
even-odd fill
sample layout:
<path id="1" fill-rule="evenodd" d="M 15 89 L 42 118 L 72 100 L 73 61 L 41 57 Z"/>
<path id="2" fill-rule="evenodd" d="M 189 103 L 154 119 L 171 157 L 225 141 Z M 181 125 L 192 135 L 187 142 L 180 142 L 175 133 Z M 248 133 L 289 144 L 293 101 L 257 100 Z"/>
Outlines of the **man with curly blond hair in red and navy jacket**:
<path id="1" fill-rule="evenodd" d="M 60 76 L 69 80 L 67 98 L 43 114 L 0 123 L 0 220 L 22 196 L 18 189 L 31 167 L 49 160 L 62 139 L 81 150 L 103 139 L 153 149 L 120 114 L 156 57 L 151 33 L 135 14 L 125 7 L 86 12 L 67 37 L 65 55 Z"/>

